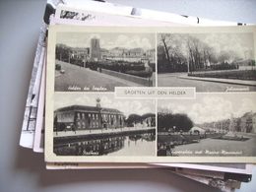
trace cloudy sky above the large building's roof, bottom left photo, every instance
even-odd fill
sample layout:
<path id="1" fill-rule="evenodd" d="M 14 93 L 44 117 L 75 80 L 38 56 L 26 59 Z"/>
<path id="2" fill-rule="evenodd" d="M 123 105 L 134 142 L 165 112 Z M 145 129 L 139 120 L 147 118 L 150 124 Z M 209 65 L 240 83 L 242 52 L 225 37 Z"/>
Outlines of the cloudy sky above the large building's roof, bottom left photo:
<path id="1" fill-rule="evenodd" d="M 126 117 L 129 114 L 136 113 L 143 115 L 145 113 L 156 113 L 156 102 L 154 99 L 127 99 L 114 98 L 114 94 L 83 94 L 83 93 L 55 93 L 54 110 L 60 107 L 73 104 L 96 106 L 96 98 L 100 98 L 101 107 L 115 108 L 124 113 Z"/>

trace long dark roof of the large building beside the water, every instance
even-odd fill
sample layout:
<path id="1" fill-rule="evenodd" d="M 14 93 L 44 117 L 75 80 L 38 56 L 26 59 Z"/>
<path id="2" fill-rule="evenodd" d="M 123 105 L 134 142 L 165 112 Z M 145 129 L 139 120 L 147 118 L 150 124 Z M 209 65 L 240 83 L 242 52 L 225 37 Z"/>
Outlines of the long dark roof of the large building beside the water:
<path id="1" fill-rule="evenodd" d="M 104 107 L 96 107 L 96 106 L 87 106 L 87 105 L 70 105 L 58 108 L 55 112 L 60 111 L 69 111 L 69 110 L 83 110 L 83 111 L 90 111 L 90 112 L 105 112 L 105 113 L 118 113 L 123 114 L 120 110 L 114 108 L 104 108 Z"/>

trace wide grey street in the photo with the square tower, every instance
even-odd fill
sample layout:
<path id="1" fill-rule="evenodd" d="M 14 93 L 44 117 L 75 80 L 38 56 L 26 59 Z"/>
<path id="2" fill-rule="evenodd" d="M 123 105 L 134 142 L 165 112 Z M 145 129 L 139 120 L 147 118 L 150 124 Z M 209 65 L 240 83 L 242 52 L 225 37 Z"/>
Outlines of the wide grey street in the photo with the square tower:
<path id="1" fill-rule="evenodd" d="M 59 63 L 61 64 L 61 70 L 64 70 L 64 73 L 55 71 L 56 92 L 114 92 L 114 87 L 141 86 L 120 78 L 102 74 L 97 71 L 92 71 L 88 68 L 83 68 L 64 62 Z"/>

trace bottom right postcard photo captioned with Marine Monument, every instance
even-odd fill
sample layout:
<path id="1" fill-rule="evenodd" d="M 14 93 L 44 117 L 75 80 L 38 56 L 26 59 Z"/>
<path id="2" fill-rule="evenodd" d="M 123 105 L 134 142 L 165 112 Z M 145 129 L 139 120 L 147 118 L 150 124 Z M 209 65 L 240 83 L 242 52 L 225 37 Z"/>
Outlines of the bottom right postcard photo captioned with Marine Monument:
<path id="1" fill-rule="evenodd" d="M 255 94 L 159 99 L 159 157 L 256 157 Z M 239 98 L 239 101 L 237 101 Z"/>

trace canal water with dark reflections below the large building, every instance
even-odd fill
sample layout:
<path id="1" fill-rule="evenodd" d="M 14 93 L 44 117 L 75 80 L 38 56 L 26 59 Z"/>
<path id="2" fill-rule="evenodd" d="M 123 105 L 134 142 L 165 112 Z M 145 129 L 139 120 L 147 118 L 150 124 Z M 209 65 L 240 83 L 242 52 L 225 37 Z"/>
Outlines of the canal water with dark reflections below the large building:
<path id="1" fill-rule="evenodd" d="M 155 133 L 79 140 L 54 146 L 58 156 L 156 156 Z"/>

